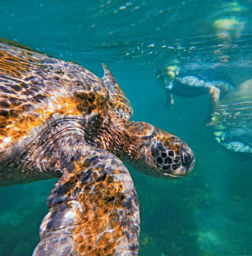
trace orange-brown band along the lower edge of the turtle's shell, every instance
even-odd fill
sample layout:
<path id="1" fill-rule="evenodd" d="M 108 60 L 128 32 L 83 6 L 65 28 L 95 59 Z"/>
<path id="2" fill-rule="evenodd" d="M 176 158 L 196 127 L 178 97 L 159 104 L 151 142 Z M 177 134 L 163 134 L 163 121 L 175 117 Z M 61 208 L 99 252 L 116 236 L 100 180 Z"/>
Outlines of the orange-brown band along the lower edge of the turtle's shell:
<path id="1" fill-rule="evenodd" d="M 92 95 L 92 96 L 91 96 Z M 92 104 L 93 103 L 93 104 Z M 106 101 L 103 94 L 82 93 L 74 96 L 58 96 L 37 106 L 32 112 L 22 113 L 20 116 L 10 116 L 0 127 L 0 143 L 5 137 L 12 142 L 27 135 L 32 128 L 44 124 L 52 114 L 82 115 L 82 112 L 90 114 L 102 113 Z M 5 125 L 4 125 L 5 124 Z"/>

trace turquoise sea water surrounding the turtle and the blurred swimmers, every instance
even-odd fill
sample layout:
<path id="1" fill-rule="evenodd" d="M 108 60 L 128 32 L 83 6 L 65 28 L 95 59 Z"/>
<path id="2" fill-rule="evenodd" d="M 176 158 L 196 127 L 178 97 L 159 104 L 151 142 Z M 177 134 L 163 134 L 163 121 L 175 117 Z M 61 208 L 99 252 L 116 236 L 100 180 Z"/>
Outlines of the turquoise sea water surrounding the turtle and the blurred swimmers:
<path id="1" fill-rule="evenodd" d="M 252 79 L 252 1 L 0 0 L 0 36 L 102 77 L 112 71 L 130 99 L 132 120 L 155 124 L 192 147 L 182 180 L 159 180 L 128 166 L 140 201 L 139 255 L 252 255 L 252 160 L 227 151 L 205 127 L 208 97 L 165 93 L 156 69 L 221 70 L 235 86 Z M 55 180 L 0 189 L 0 255 L 30 255 Z"/>

